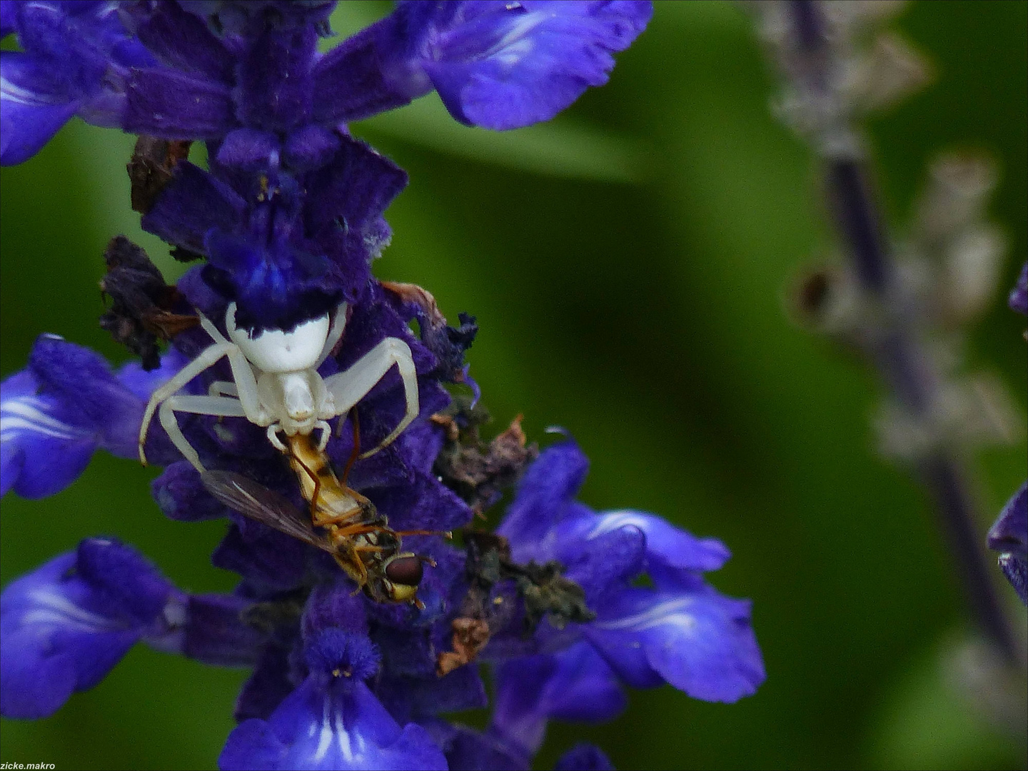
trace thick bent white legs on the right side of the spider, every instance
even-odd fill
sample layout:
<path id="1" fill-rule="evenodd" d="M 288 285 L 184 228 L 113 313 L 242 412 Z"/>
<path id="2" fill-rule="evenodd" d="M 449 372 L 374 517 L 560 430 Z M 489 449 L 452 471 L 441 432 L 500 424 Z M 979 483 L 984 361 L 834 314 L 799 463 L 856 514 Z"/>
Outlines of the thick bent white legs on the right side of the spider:
<path id="1" fill-rule="evenodd" d="M 394 439 L 406 429 L 410 421 L 417 417 L 417 371 L 414 369 L 414 360 L 410 355 L 410 346 L 399 337 L 387 337 L 375 345 L 371 351 L 362 356 L 357 362 L 344 372 L 338 372 L 325 378 L 325 388 L 328 389 L 335 400 L 335 414 L 342 415 L 367 396 L 390 368 L 396 365 L 403 379 L 404 396 L 407 403 L 407 411 L 403 419 L 393 429 L 392 433 L 360 457 L 368 457 L 378 450 L 388 446 Z"/>

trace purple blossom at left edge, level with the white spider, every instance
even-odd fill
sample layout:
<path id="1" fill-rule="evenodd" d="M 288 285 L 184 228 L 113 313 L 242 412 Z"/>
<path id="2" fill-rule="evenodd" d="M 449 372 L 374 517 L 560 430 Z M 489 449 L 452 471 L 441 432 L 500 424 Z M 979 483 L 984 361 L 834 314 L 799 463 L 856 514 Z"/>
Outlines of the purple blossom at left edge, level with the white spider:
<path id="1" fill-rule="evenodd" d="M 0 384 L 0 494 L 52 495 L 78 478 L 98 447 L 136 457 L 149 398 L 138 392 L 180 363 L 172 357 L 145 376 L 130 365 L 116 376 L 91 351 L 41 335 L 29 367 Z"/>

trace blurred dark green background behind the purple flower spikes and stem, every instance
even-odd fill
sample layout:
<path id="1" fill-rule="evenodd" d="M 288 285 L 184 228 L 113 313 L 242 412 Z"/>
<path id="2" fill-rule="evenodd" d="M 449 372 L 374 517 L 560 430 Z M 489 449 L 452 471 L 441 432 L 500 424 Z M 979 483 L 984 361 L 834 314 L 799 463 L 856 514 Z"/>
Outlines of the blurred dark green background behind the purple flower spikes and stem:
<path id="1" fill-rule="evenodd" d="M 386 8 L 344 3 L 334 28 Z M 1012 256 L 969 357 L 1023 412 L 1025 320 L 1003 296 L 1026 254 L 1028 4 L 921 2 L 894 26 L 937 80 L 871 126 L 886 206 L 905 221 L 940 149 L 1000 160 L 992 212 Z M 1024 737 L 941 673 L 965 633 L 959 587 L 924 494 L 873 453 L 875 378 L 783 315 L 783 286 L 829 242 L 808 152 L 769 116 L 772 91 L 738 6 L 658 2 L 610 84 L 549 124 L 464 128 L 430 97 L 356 126 L 411 177 L 376 274 L 427 287 L 451 319 L 478 317 L 470 361 L 493 429 L 524 413 L 545 443 L 544 428 L 565 427 L 592 458 L 586 502 L 724 540 L 734 556 L 711 578 L 754 600 L 768 670 L 756 696 L 636 692 L 613 724 L 554 725 L 537 767 L 587 737 L 619 768 L 1023 768 Z M 76 121 L 3 170 L 4 376 L 44 331 L 126 359 L 97 326 L 113 234 L 181 272 L 128 209 L 132 144 Z M 1025 478 L 1023 438 L 978 467 L 984 536 Z M 101 454 L 61 494 L 6 498 L 4 584 L 109 534 L 183 588 L 229 589 L 208 559 L 224 523 L 167 520 L 156 474 Z M 3 721 L 0 760 L 213 768 L 245 676 L 140 647 L 53 718 Z"/>

